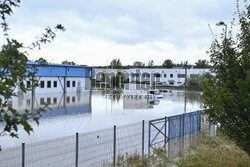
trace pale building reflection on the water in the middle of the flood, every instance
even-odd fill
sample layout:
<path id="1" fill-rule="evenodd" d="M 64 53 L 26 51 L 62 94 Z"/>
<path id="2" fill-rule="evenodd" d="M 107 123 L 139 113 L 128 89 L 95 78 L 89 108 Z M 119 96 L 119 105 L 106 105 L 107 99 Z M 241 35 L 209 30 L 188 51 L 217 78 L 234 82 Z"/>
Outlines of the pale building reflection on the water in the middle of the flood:
<path id="1" fill-rule="evenodd" d="M 123 99 L 123 109 L 150 109 L 159 102 L 160 100 L 145 98 L 145 96 L 141 99 L 128 97 Z"/>

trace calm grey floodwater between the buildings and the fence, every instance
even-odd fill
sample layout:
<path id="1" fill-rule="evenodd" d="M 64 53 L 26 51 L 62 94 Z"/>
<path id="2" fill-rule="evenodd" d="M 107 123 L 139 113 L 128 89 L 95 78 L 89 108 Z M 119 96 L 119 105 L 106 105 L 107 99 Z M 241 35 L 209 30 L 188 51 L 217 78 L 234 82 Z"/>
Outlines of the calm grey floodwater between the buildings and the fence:
<path id="1" fill-rule="evenodd" d="M 115 96 L 107 96 L 115 95 Z M 34 132 L 28 135 L 23 129 L 18 131 L 19 139 L 9 136 L 0 137 L 2 148 L 49 140 L 75 133 L 110 128 L 114 125 L 127 125 L 142 120 L 151 120 L 165 116 L 182 114 L 202 109 L 199 92 L 185 93 L 173 90 L 163 94 L 163 98 L 153 103 L 148 98 L 124 98 L 123 92 L 86 91 L 81 93 L 58 94 L 18 94 L 12 99 L 14 108 L 37 109 L 44 103 L 50 104 L 50 110 L 43 113 L 40 124 L 31 122 Z M 1 126 L 1 125 L 0 125 Z M 1 128 L 1 127 L 0 127 Z"/>

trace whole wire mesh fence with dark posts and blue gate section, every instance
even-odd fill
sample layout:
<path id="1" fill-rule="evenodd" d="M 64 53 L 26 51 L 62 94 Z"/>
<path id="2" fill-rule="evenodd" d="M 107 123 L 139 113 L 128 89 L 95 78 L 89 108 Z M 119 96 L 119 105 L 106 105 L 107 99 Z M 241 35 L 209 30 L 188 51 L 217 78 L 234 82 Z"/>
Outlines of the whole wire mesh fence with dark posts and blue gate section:
<path id="1" fill-rule="evenodd" d="M 102 166 L 115 164 L 120 154 L 137 152 L 144 155 L 153 144 L 166 145 L 166 142 L 169 154 L 173 154 L 176 150 L 172 145 L 177 137 L 191 135 L 207 126 L 207 118 L 202 113 L 195 111 L 49 141 L 23 143 L 0 151 L 0 166 Z"/>

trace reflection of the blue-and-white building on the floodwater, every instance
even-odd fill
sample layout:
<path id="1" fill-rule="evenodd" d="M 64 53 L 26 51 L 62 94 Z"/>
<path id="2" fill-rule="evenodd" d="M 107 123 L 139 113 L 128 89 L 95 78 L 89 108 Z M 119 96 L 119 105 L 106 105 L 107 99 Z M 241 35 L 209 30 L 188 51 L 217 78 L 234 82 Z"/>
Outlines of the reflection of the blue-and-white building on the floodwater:
<path id="1" fill-rule="evenodd" d="M 56 116 L 60 114 L 72 114 L 91 112 L 90 91 L 68 92 L 68 93 L 32 93 L 19 92 L 12 98 L 12 106 L 18 111 L 36 110 L 48 105 L 45 116 Z M 50 111 L 51 110 L 51 111 Z"/>

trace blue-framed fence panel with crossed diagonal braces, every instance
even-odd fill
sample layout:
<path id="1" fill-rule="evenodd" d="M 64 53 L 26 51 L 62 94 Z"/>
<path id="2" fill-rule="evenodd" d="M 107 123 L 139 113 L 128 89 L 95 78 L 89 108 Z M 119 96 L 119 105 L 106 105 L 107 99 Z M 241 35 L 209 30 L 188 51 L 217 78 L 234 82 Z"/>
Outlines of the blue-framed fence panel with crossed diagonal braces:
<path id="1" fill-rule="evenodd" d="M 168 141 L 168 128 L 167 128 L 167 117 L 154 119 L 149 121 L 148 127 L 148 148 L 152 147 L 155 144 Z"/>

